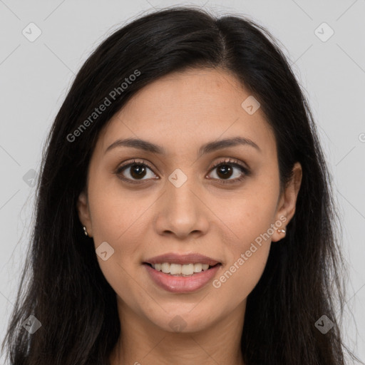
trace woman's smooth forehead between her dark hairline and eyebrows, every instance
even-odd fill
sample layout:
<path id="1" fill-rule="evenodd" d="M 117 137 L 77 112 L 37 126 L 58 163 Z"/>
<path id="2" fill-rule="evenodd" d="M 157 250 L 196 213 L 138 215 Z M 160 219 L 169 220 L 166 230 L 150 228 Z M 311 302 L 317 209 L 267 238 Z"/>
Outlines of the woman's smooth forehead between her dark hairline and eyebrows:
<path id="1" fill-rule="evenodd" d="M 242 108 L 249 97 L 237 78 L 220 69 L 170 73 L 130 98 L 111 118 L 98 145 L 105 151 L 117 138 L 140 138 L 177 155 L 240 135 L 272 153 L 274 135 L 262 110 L 250 115 Z"/>

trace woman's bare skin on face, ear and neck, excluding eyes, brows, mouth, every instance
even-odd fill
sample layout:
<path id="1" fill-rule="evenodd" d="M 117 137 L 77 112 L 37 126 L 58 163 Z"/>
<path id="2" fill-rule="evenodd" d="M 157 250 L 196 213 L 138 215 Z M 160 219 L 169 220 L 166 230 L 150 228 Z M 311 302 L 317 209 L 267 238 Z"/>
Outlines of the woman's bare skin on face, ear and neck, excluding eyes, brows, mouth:
<path id="1" fill-rule="evenodd" d="M 278 220 L 286 219 L 279 226 L 285 229 L 292 219 L 302 167 L 294 165 L 280 193 L 274 134 L 260 109 L 250 115 L 242 108 L 248 96 L 221 69 L 170 73 L 135 94 L 100 133 L 78 213 L 95 247 L 108 242 L 114 250 L 106 261 L 96 256 L 118 302 L 122 336 L 110 364 L 244 364 L 240 337 L 247 296 L 262 275 L 270 245 L 285 234 L 274 230 L 220 287 L 211 281 L 190 294 L 157 287 L 142 262 L 166 252 L 198 252 L 222 263 L 214 278 L 219 279 L 255 238 Z M 260 151 L 237 145 L 197 155 L 204 143 L 237 136 L 250 138 Z M 118 138 L 148 140 L 166 155 L 130 147 L 105 153 Z M 133 158 L 153 167 L 145 167 L 140 185 L 115 174 Z M 225 158 L 239 160 L 251 174 L 238 183 L 220 183 L 242 175 L 229 163 L 227 178 L 220 168 L 212 170 Z M 181 187 L 168 180 L 176 168 L 187 176 Z M 133 168 L 123 174 L 138 180 Z M 175 316 L 185 325 L 180 331 L 169 325 Z"/>

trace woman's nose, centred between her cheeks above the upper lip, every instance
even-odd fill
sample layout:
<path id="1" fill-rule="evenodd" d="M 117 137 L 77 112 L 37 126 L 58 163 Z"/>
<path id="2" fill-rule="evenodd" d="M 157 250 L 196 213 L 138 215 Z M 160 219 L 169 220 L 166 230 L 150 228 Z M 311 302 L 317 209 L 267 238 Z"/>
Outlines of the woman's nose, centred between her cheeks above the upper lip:
<path id="1" fill-rule="evenodd" d="M 189 235 L 197 238 L 206 234 L 211 213 L 193 179 L 187 179 L 180 187 L 169 181 L 157 204 L 155 230 L 159 235 L 185 240 Z"/>

